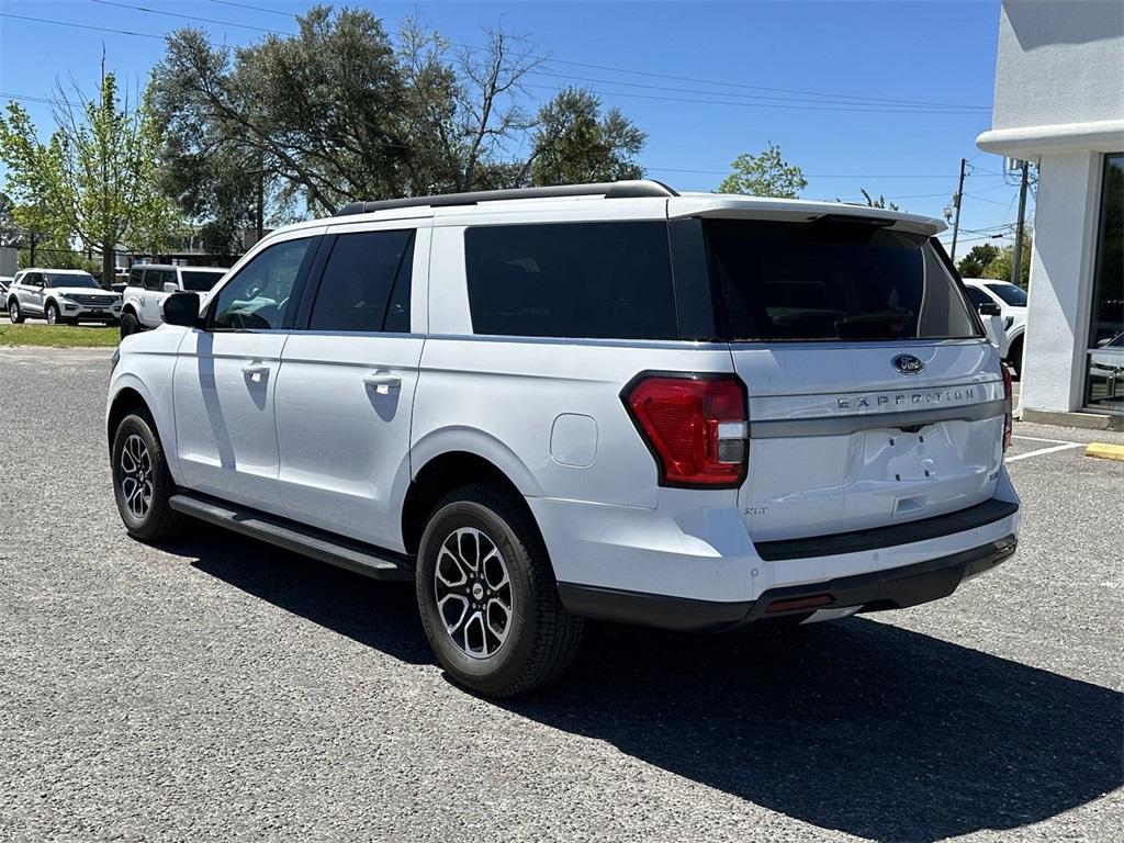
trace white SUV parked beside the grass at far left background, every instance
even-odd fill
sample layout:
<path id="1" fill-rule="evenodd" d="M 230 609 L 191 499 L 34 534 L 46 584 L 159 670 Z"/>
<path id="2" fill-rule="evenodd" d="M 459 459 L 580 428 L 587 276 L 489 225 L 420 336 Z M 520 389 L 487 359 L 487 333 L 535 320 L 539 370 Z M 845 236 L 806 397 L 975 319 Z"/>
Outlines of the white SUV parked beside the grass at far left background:
<path id="1" fill-rule="evenodd" d="M 51 325 L 101 321 L 114 325 L 121 314 L 121 297 L 102 290 L 82 270 L 20 270 L 8 287 L 8 318 L 19 324 L 34 316 Z"/>

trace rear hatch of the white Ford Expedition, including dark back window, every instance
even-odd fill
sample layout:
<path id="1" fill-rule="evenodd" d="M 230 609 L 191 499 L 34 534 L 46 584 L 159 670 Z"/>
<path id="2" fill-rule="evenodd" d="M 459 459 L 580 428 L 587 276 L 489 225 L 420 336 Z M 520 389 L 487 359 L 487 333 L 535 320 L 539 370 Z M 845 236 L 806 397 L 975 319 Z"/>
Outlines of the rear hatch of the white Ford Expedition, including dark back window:
<path id="1" fill-rule="evenodd" d="M 705 219 L 749 390 L 754 541 L 849 533 L 995 493 L 1004 384 L 937 244 L 892 219 Z"/>

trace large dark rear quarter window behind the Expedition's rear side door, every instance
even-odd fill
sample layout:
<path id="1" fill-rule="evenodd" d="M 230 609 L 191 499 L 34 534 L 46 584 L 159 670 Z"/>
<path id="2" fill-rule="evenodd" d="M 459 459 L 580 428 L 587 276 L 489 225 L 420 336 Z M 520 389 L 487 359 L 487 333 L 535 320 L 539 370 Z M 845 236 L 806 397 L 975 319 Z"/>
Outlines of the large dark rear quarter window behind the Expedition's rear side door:
<path id="1" fill-rule="evenodd" d="M 678 338 L 664 223 L 470 228 L 464 252 L 477 334 Z"/>

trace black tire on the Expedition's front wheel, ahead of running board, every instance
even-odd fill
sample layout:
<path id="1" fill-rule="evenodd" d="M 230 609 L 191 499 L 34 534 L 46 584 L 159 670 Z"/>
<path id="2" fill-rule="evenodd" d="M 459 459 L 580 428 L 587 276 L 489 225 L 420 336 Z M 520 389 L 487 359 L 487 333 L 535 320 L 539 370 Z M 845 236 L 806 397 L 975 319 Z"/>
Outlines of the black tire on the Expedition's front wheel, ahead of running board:
<path id="1" fill-rule="evenodd" d="M 140 439 L 147 454 L 146 469 L 143 468 L 144 461 L 137 463 L 135 459 L 125 457 L 126 448 L 133 447 L 132 441 L 135 437 Z M 152 422 L 136 414 L 123 418 L 114 434 L 111 460 L 114 498 L 117 500 L 117 511 L 129 534 L 148 543 L 173 536 L 182 525 L 183 516 L 167 504 L 167 499 L 175 493 L 175 483 L 167 470 L 164 448 L 153 429 Z M 134 482 L 137 480 L 137 472 L 129 470 L 130 464 L 142 466 L 143 480 L 148 483 L 147 506 L 139 515 L 129 502 L 129 490 L 135 489 L 135 486 L 127 483 L 126 479 L 132 478 Z M 143 498 L 144 495 L 140 502 L 144 502 Z"/>

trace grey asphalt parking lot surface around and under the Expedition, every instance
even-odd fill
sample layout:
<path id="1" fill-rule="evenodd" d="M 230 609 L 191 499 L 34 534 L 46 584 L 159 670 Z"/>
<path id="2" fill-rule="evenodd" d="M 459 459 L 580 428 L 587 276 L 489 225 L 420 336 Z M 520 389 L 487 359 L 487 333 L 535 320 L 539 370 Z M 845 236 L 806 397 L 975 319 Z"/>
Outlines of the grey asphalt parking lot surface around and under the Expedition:
<path id="1" fill-rule="evenodd" d="M 1018 425 L 1021 549 L 944 601 L 599 625 L 497 705 L 409 587 L 128 538 L 108 360 L 0 350 L 0 840 L 1120 840 L 1124 463 L 1050 448 L 1124 436 Z"/>

